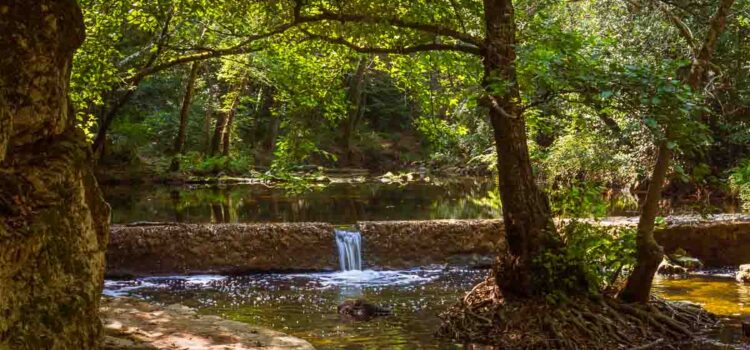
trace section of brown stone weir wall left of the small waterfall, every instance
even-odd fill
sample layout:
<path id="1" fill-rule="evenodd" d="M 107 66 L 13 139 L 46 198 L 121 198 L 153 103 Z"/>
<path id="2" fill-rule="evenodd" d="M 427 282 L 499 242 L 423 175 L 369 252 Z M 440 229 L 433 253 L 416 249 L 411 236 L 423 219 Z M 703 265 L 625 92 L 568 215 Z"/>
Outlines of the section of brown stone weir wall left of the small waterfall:
<path id="1" fill-rule="evenodd" d="M 113 225 L 107 275 L 334 270 L 324 223 Z"/>

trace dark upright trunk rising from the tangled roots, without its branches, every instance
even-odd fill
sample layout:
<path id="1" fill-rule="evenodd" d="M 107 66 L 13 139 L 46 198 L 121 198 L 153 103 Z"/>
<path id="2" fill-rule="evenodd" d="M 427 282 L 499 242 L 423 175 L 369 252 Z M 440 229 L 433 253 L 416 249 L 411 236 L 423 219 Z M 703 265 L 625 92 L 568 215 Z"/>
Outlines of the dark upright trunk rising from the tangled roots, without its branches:
<path id="1" fill-rule="evenodd" d="M 531 169 L 526 123 L 515 70 L 515 22 L 511 0 L 484 0 L 487 26 L 483 85 L 498 155 L 499 189 L 507 254 L 495 268 L 505 296 L 544 294 L 534 275 L 534 259 L 559 249 L 549 202 Z"/>

